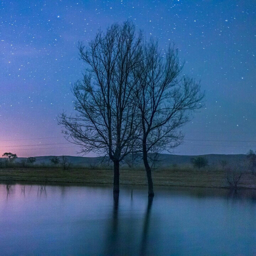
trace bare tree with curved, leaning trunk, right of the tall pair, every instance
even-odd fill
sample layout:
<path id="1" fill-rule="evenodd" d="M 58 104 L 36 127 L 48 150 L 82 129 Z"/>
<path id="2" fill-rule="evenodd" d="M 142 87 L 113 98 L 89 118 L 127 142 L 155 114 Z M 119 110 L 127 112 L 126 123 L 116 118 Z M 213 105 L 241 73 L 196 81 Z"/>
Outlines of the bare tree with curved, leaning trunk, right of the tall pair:
<path id="1" fill-rule="evenodd" d="M 134 71 L 149 196 L 154 196 L 154 191 L 148 154 L 153 149 L 170 151 L 181 143 L 183 135 L 178 128 L 189 121 L 191 111 L 201 107 L 204 96 L 197 82 L 180 76 L 181 70 L 177 50 L 169 47 L 163 54 L 151 40 Z"/>

